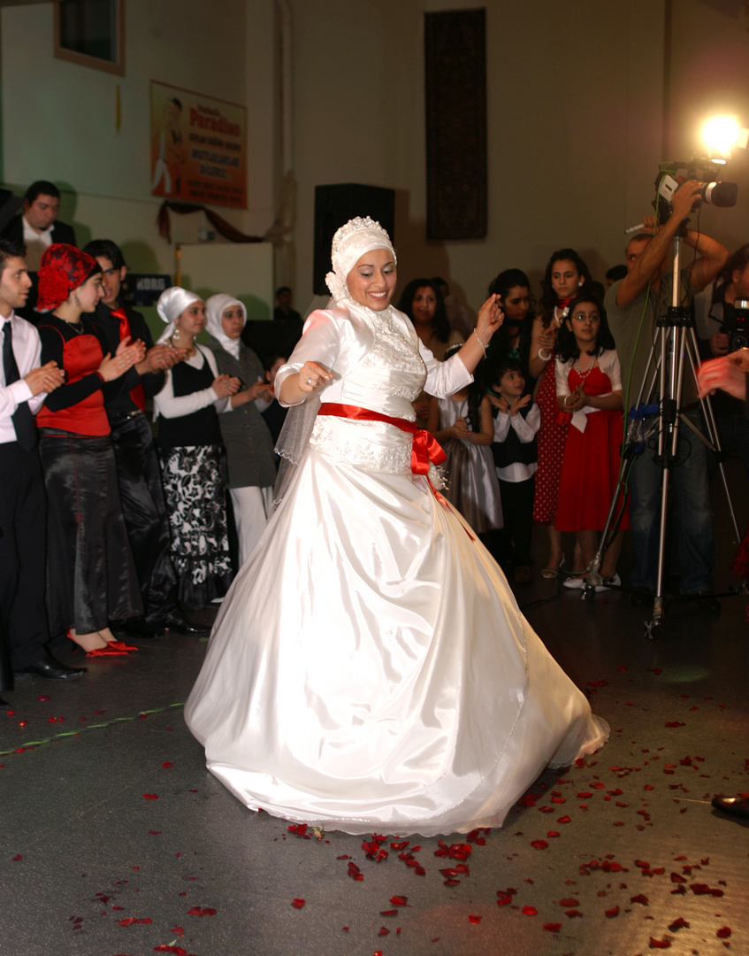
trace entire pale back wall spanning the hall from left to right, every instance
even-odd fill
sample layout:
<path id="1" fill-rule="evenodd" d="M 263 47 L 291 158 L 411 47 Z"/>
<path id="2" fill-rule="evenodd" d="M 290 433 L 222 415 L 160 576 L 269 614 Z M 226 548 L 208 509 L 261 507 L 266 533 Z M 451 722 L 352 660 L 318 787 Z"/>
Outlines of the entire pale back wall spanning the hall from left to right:
<path id="1" fill-rule="evenodd" d="M 3 174 L 69 186 L 62 218 L 81 238 L 109 235 L 139 270 L 172 272 L 149 195 L 148 84 L 153 79 L 243 103 L 248 208 L 219 208 L 263 234 L 278 215 L 281 175 L 279 11 L 293 44 L 289 243 L 277 283 L 311 294 L 314 187 L 396 189 L 401 284 L 442 273 L 478 306 L 489 280 L 520 266 L 537 286 L 549 252 L 571 245 L 594 273 L 622 261 L 623 229 L 650 209 L 657 164 L 697 147 L 697 115 L 725 102 L 749 120 L 749 19 L 734 5 L 672 0 L 670 114 L 664 143 L 666 0 L 492 0 L 487 8 L 489 228 L 483 241 L 427 243 L 423 13 L 476 0 L 131 0 L 126 76 L 52 56 L 52 5 L 3 8 Z M 726 12 L 727 11 L 727 12 Z M 115 128 L 120 86 L 121 128 Z M 290 96 L 289 96 L 290 94 Z M 737 210 L 702 226 L 733 247 L 749 208 L 745 157 Z M 362 210 L 366 211 L 366 210 Z M 536 291 L 536 289 L 534 289 Z"/>

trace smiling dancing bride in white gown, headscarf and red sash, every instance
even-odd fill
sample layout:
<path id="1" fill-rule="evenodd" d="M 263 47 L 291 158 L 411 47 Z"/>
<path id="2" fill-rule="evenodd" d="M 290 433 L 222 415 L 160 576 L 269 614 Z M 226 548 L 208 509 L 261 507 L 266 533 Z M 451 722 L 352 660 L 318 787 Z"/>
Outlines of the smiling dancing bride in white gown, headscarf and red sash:
<path id="1" fill-rule="evenodd" d="M 275 380 L 297 406 L 284 453 L 298 467 L 225 597 L 185 720 L 251 810 L 350 834 L 499 826 L 548 764 L 609 729 L 434 489 L 439 446 L 414 435 L 412 400 L 471 381 L 502 313 L 489 298 L 439 363 L 390 305 L 384 229 L 340 228 L 332 264 L 335 307 L 310 315 Z"/>

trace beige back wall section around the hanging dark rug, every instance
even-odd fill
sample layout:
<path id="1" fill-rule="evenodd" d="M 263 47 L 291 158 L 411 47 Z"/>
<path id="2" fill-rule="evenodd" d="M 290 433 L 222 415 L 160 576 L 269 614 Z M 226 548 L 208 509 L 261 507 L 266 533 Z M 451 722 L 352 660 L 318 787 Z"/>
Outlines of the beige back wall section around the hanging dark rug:
<path id="1" fill-rule="evenodd" d="M 311 286 L 314 186 L 396 189 L 400 283 L 440 273 L 481 304 L 518 266 L 573 246 L 601 277 L 646 211 L 661 147 L 663 0 L 487 5 L 489 228 L 427 243 L 423 12 L 472 0 L 293 4 L 297 301 Z M 366 210 L 362 210 L 366 212 Z"/>

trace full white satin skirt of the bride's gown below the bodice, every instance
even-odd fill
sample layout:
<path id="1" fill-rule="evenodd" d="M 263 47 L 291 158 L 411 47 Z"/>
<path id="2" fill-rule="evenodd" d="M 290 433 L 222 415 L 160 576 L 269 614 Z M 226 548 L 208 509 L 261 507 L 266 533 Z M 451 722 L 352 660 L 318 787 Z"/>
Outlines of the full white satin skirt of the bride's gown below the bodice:
<path id="1" fill-rule="evenodd" d="M 184 709 L 251 810 L 398 836 L 500 826 L 609 728 L 421 478 L 310 447 Z"/>

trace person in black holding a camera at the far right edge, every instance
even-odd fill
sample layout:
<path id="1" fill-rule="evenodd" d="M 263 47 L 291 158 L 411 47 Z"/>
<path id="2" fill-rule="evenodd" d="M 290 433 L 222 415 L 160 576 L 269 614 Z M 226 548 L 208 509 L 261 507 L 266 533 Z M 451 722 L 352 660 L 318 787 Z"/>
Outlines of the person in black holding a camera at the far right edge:
<path id="1" fill-rule="evenodd" d="M 740 354 L 740 349 L 736 350 L 745 344 L 749 320 L 740 314 L 735 317 L 734 305 L 743 299 L 749 299 L 749 243 L 734 252 L 717 277 L 707 322 L 697 330 L 702 359 L 727 356 L 729 352 Z M 713 332 L 714 329 L 718 331 Z M 738 455 L 744 473 L 749 477 L 749 419 L 743 402 L 722 391 L 717 392 L 713 411 L 723 450 Z"/>

